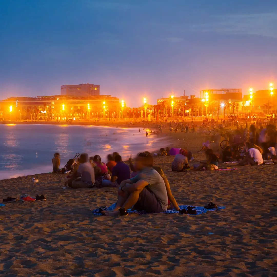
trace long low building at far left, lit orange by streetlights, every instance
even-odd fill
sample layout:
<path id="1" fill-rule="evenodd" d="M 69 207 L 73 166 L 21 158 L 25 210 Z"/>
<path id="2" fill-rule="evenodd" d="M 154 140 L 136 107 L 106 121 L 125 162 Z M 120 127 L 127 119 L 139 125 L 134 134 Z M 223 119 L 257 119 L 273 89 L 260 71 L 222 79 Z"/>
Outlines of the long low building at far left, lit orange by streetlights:
<path id="1" fill-rule="evenodd" d="M 80 90 L 77 89 L 77 91 L 82 93 L 81 85 L 79 86 Z M 87 88 L 90 86 L 94 88 L 93 93 L 97 95 L 87 95 L 83 92 L 83 96 L 61 94 L 7 98 L 0 101 L 0 120 L 78 121 L 122 117 L 119 98 L 99 95 L 99 86 L 86 85 Z"/>

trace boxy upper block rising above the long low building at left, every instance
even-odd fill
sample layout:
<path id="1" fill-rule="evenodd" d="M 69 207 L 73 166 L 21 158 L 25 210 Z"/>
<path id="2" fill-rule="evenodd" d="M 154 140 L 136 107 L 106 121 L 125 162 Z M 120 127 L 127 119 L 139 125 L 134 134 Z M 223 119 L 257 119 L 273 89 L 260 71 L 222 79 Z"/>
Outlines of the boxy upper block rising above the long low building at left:
<path id="1" fill-rule="evenodd" d="M 61 86 L 61 95 L 70 96 L 97 96 L 100 95 L 100 85 L 79 84 Z"/>

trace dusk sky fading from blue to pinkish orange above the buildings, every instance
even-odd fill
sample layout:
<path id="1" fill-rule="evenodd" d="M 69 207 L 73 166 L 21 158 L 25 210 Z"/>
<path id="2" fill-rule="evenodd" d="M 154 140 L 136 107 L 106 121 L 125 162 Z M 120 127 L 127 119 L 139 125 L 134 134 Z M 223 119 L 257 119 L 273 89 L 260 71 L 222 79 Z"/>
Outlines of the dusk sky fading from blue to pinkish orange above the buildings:
<path id="1" fill-rule="evenodd" d="M 0 10 L 0 99 L 92 83 L 137 107 L 277 87 L 276 0 L 2 0 Z"/>

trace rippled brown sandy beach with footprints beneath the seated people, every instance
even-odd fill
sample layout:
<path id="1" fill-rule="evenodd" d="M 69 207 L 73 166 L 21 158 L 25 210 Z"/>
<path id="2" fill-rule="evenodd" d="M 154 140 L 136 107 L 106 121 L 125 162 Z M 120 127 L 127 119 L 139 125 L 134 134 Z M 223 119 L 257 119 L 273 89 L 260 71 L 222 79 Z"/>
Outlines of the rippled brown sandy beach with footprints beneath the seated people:
<path id="1" fill-rule="evenodd" d="M 205 139 L 199 133 L 172 137 L 204 158 L 195 154 Z M 116 188 L 63 189 L 66 176 L 52 173 L 1 180 L 2 198 L 29 193 L 47 201 L 0 207 L 0 275 L 276 276 L 277 166 L 177 173 L 173 158 L 154 161 L 179 205 L 212 201 L 226 209 L 109 218 L 92 211 L 116 202 Z"/>

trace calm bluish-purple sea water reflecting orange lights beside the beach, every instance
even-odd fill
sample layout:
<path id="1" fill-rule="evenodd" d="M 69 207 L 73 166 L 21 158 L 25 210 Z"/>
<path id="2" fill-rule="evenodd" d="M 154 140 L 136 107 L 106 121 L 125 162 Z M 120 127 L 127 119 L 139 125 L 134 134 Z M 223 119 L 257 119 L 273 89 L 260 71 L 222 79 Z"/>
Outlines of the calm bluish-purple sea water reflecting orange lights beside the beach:
<path id="1" fill-rule="evenodd" d="M 156 136 L 137 128 L 111 128 L 78 125 L 0 124 L 0 179 L 52 171 L 55 152 L 61 167 L 78 153 L 119 152 L 123 159 L 140 151 L 155 151 L 163 145 Z"/>

